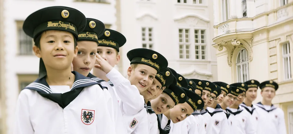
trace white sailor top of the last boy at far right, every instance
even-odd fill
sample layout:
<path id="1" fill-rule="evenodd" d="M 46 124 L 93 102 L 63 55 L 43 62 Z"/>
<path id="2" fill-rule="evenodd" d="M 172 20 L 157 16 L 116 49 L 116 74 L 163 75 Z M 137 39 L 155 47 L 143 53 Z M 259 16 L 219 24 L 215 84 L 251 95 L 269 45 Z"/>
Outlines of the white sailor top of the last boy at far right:
<path id="1" fill-rule="evenodd" d="M 284 111 L 274 105 L 255 104 L 258 113 L 257 134 L 287 134 Z"/>

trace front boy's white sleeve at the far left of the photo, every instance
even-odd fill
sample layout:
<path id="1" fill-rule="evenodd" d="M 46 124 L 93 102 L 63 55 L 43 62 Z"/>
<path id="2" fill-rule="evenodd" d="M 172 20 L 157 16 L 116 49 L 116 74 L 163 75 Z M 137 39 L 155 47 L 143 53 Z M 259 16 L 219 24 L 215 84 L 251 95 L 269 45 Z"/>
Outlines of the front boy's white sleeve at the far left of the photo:
<path id="1" fill-rule="evenodd" d="M 13 130 L 14 134 L 34 134 L 33 126 L 30 120 L 29 98 L 31 92 L 29 89 L 24 89 L 20 92 L 16 104 L 16 126 Z"/>

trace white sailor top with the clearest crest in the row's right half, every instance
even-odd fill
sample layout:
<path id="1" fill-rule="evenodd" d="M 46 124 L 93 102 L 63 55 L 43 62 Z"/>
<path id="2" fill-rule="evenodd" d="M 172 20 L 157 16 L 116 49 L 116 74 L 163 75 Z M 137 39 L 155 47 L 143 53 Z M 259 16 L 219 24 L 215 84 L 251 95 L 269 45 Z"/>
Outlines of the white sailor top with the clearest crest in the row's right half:
<path id="1" fill-rule="evenodd" d="M 217 104 L 215 109 L 212 107 L 207 107 L 207 112 L 212 117 L 210 123 L 212 126 L 210 131 L 211 134 L 230 134 L 227 116 L 219 104 Z"/>

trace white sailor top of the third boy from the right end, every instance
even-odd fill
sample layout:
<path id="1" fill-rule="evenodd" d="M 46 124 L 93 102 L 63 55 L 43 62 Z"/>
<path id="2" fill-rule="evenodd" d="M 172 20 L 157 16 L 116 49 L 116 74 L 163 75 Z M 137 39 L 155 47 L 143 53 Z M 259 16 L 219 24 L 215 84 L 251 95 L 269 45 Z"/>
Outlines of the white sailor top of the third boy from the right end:
<path id="1" fill-rule="evenodd" d="M 238 107 L 237 109 L 233 109 L 228 107 L 226 109 L 230 113 L 232 125 L 231 125 L 231 133 L 237 134 L 255 134 L 256 130 L 251 123 L 251 114 L 248 111 L 243 110 Z"/>

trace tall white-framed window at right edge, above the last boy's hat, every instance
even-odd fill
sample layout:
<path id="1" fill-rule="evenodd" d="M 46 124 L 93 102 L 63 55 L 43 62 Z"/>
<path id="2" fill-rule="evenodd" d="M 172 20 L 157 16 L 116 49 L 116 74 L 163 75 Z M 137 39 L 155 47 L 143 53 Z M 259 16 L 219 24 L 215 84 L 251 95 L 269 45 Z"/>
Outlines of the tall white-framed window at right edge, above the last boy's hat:
<path id="1" fill-rule="evenodd" d="M 284 45 L 287 47 L 287 54 L 284 54 Z M 285 68 L 285 58 L 287 58 L 287 67 L 288 70 Z M 288 80 L 291 79 L 291 56 L 290 56 L 290 43 L 286 42 L 282 44 L 282 59 L 283 59 L 283 69 L 284 69 L 284 79 Z"/>

